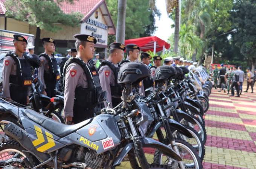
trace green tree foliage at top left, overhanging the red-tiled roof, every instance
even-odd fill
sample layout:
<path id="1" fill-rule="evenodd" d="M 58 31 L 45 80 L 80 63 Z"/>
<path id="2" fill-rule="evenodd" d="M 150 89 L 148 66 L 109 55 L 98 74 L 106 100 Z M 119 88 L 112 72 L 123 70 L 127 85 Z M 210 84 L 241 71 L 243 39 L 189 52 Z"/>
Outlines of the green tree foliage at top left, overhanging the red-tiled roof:
<path id="1" fill-rule="evenodd" d="M 6 0 L 6 16 L 20 21 L 27 21 L 47 31 L 56 32 L 61 29 L 56 23 L 78 26 L 82 14 L 72 12 L 64 13 L 58 6 L 63 1 L 72 3 L 73 0 Z"/>

